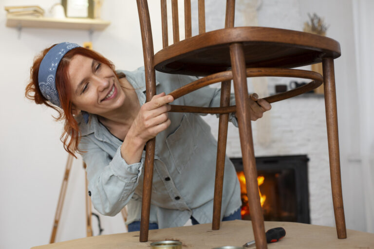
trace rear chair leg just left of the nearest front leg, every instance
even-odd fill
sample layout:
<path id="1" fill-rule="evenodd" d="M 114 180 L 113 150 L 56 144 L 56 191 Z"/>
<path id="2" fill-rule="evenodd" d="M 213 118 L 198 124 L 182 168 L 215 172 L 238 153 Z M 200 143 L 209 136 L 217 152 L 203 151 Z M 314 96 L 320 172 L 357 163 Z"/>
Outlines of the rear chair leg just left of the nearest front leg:
<path id="1" fill-rule="evenodd" d="M 221 107 L 230 105 L 231 81 L 221 84 Z M 224 159 L 226 155 L 228 113 L 220 114 L 218 126 L 218 147 L 216 163 L 216 181 L 214 185 L 212 230 L 219 230 L 221 223 L 222 190 L 224 185 Z"/>

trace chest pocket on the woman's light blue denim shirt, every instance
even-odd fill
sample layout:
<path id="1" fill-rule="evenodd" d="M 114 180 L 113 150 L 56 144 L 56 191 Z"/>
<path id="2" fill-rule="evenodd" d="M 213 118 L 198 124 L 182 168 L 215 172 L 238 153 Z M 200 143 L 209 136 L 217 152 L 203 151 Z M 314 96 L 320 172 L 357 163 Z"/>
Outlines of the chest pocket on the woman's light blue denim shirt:
<path id="1" fill-rule="evenodd" d="M 182 117 L 181 124 L 177 129 L 168 135 L 166 144 L 174 162 L 175 168 L 181 174 L 192 159 L 196 150 L 196 142 L 192 125 L 188 121 L 187 115 Z"/>

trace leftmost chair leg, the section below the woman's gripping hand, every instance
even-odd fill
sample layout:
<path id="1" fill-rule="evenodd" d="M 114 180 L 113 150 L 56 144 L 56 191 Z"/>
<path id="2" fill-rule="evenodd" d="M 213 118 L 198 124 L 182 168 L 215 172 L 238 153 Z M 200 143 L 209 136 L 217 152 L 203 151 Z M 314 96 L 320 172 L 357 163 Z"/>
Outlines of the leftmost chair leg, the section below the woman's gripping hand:
<path id="1" fill-rule="evenodd" d="M 150 225 L 150 198 L 152 194 L 153 161 L 156 139 L 147 142 L 146 160 L 144 164 L 142 216 L 140 219 L 140 242 L 148 241 L 148 229 Z"/>

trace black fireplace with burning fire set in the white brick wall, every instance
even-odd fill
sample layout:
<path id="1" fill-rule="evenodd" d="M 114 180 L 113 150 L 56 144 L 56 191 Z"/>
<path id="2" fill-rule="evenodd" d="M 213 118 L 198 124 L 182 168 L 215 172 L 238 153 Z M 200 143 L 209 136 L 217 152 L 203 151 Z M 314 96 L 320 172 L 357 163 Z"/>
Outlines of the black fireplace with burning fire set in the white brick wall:
<path id="1" fill-rule="evenodd" d="M 261 206 L 266 221 L 310 223 L 306 155 L 256 158 Z M 250 220 L 243 160 L 231 158 L 242 192 L 242 219 Z"/>

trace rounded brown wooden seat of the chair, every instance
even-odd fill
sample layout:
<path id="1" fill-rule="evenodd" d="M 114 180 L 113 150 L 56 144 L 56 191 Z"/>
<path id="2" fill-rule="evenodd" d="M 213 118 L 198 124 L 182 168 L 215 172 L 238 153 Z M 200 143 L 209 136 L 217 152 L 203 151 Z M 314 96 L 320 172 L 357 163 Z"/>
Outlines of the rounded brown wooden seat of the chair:
<path id="1" fill-rule="evenodd" d="M 157 71 L 206 76 L 230 67 L 229 45 L 243 43 L 247 68 L 295 68 L 340 56 L 339 43 L 325 36 L 263 27 L 235 27 L 187 38 L 154 55 Z"/>

